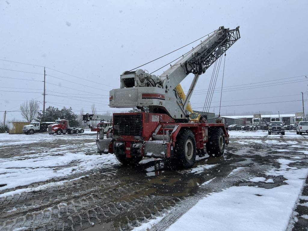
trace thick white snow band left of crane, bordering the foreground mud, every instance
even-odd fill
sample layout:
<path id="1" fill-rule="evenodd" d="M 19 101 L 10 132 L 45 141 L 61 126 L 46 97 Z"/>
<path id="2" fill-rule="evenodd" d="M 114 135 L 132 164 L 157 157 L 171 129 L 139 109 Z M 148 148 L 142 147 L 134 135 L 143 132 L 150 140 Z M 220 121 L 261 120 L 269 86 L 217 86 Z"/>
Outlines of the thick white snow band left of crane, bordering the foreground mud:
<path id="1" fill-rule="evenodd" d="M 58 153 L 58 155 L 51 155 L 47 152 L 33 154 L 30 158 L 27 155 L 0 159 L 0 190 L 68 176 L 72 173 L 86 172 L 93 168 L 101 168 L 103 165 L 110 166 L 115 163 L 118 164 L 119 162 L 114 155 L 86 155 L 83 152 Z M 12 190 L 0 194 L 0 197 L 31 190 L 35 191 L 36 189 Z"/>

